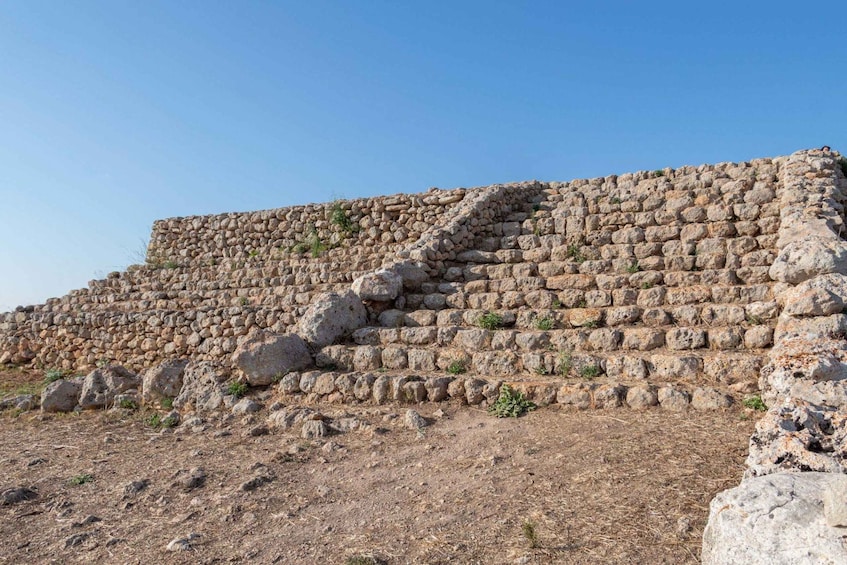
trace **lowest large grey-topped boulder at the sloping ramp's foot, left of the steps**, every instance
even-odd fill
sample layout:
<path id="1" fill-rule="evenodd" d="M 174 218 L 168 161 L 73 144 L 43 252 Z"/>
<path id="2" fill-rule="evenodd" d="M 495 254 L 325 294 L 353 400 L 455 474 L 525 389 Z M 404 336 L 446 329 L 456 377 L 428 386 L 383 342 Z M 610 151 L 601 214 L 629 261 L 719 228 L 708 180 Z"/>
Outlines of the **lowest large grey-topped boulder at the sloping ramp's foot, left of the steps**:
<path id="1" fill-rule="evenodd" d="M 298 335 L 260 331 L 238 346 L 232 362 L 241 369 L 248 383 L 265 386 L 291 371 L 305 369 L 312 364 L 312 356 Z"/>

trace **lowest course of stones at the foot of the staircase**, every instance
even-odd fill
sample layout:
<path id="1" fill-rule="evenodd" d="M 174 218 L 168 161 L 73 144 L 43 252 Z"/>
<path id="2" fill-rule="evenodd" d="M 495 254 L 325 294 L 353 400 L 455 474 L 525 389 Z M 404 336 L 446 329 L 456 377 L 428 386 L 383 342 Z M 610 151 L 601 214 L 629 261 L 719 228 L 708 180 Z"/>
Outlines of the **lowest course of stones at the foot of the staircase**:
<path id="1" fill-rule="evenodd" d="M 284 399 L 306 402 L 419 403 L 453 401 L 487 408 L 508 385 L 537 406 L 558 404 L 577 410 L 603 408 L 648 409 L 661 407 L 684 411 L 724 409 L 739 400 L 726 387 L 614 381 L 562 382 L 554 379 L 502 380 L 462 376 L 421 376 L 374 372 L 288 373 L 277 385 Z"/>

